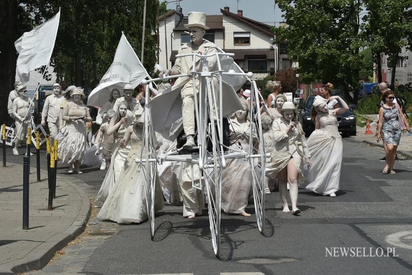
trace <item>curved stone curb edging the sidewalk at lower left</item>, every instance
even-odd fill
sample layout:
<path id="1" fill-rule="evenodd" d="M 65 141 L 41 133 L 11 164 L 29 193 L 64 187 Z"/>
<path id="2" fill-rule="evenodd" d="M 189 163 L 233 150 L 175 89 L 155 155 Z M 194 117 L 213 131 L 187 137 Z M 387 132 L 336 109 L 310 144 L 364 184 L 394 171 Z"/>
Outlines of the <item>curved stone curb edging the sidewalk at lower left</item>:
<path id="1" fill-rule="evenodd" d="M 46 173 L 42 171 L 42 173 Z M 62 177 L 58 177 L 62 178 Z M 64 179 L 64 178 L 62 178 Z M 69 242 L 73 241 L 77 236 L 79 236 L 86 228 L 87 221 L 90 218 L 90 213 L 92 206 L 90 204 L 90 199 L 84 192 L 79 190 L 79 187 L 71 182 L 66 182 L 70 185 L 81 199 L 80 210 L 76 220 L 63 232 L 54 235 L 48 239 L 45 243 L 42 243 L 36 247 L 32 252 L 30 252 L 24 259 L 19 259 L 14 262 L 7 263 L 7 267 L 10 267 L 11 272 L 23 273 L 31 270 L 39 270 L 48 264 L 50 259 L 54 257 L 56 251 L 61 250 Z M 13 274 L 3 273 L 4 269 L 0 267 L 0 274 Z"/>

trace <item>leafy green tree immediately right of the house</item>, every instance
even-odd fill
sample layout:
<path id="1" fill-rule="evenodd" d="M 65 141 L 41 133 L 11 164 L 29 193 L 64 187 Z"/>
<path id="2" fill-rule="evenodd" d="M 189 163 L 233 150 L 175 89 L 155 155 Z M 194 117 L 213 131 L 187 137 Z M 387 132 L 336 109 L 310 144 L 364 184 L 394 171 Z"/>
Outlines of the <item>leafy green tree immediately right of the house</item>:
<path id="1" fill-rule="evenodd" d="M 287 41 L 288 55 L 299 62 L 306 81 L 343 86 L 344 94 L 359 87 L 358 0 L 277 0 L 287 27 L 274 28 L 277 43 Z M 353 93 L 357 102 L 358 93 Z"/>

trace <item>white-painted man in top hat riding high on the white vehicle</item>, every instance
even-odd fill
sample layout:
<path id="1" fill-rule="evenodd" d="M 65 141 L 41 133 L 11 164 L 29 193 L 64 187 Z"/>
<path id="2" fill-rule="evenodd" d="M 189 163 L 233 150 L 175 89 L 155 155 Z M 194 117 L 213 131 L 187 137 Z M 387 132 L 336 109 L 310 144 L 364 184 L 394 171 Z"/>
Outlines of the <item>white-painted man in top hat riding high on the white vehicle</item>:
<path id="1" fill-rule="evenodd" d="M 213 43 L 203 40 L 203 36 L 206 33 L 206 30 L 209 28 L 206 27 L 206 14 L 199 12 L 190 12 L 189 23 L 184 26 L 189 30 L 190 34 L 190 43 L 182 45 L 177 54 L 187 54 L 187 53 L 199 53 L 199 54 L 211 54 L 218 52 Z M 210 71 L 217 70 L 214 69 L 216 65 L 216 58 L 208 58 L 207 61 Z M 174 63 L 172 69 L 169 69 L 165 72 L 166 75 L 179 75 L 179 74 L 188 74 L 193 70 L 192 68 L 193 59 L 191 56 L 178 57 Z M 197 71 L 199 69 L 200 62 L 196 63 Z M 191 76 L 191 75 L 190 75 Z M 217 78 L 213 78 L 213 84 L 215 90 L 218 90 L 218 81 Z M 174 86 L 183 85 L 180 96 L 182 97 L 182 118 L 183 118 L 183 129 L 186 134 L 187 142 L 183 145 L 183 148 L 189 149 L 195 146 L 194 142 L 194 129 L 195 129 L 195 107 L 194 107 L 194 94 L 193 94 L 193 82 L 192 78 L 189 77 L 180 77 L 174 83 Z M 195 81 L 196 93 L 199 93 L 199 79 Z"/>

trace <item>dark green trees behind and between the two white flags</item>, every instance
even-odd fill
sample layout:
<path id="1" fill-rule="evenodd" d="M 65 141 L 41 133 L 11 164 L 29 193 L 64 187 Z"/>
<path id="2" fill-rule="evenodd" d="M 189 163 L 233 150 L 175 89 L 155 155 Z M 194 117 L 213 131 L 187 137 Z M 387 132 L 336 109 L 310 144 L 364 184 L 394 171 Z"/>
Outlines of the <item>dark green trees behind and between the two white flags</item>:
<path id="1" fill-rule="evenodd" d="M 143 1 L 24 0 L 36 24 L 61 7 L 59 32 L 52 61 L 59 79 L 81 86 L 96 85 L 111 65 L 122 31 L 140 57 Z M 147 0 L 144 63 L 153 68 L 157 47 L 157 1 Z M 150 73 L 150 69 L 149 69 Z"/>

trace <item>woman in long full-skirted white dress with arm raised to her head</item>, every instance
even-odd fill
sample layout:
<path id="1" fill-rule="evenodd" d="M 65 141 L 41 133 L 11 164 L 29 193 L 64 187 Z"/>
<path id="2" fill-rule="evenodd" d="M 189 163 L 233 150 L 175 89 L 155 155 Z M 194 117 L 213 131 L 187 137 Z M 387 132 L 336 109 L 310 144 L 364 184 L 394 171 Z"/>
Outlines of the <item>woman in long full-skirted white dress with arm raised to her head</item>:
<path id="1" fill-rule="evenodd" d="M 342 108 L 328 108 L 326 100 L 317 96 L 313 102 L 316 110 L 315 131 L 307 140 L 311 154 L 312 168 L 303 169 L 305 181 L 301 187 L 312 190 L 317 194 L 336 196 L 339 190 L 340 169 L 342 164 L 343 144 L 338 132 L 337 114 L 345 113 L 349 107 L 346 102 L 338 97 L 330 97 L 331 100 L 339 100 Z"/>

